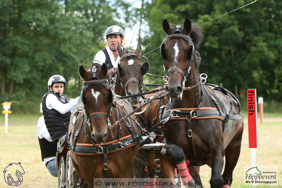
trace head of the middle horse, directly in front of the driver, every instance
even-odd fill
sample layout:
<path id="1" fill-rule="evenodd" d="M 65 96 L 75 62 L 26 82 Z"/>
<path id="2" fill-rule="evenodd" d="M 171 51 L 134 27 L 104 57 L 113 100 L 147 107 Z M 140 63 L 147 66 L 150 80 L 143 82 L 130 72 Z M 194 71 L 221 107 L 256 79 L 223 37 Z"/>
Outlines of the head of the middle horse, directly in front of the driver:
<path id="1" fill-rule="evenodd" d="M 117 51 L 120 56 L 117 71 L 125 94 L 135 95 L 142 93 L 143 75 L 148 72 L 150 65 L 148 61 L 143 64 L 140 61 L 140 42 L 137 44 L 136 50 L 130 53 L 124 52 L 119 44 L 117 45 Z M 129 98 L 129 102 L 136 106 L 140 103 L 140 98 L 141 96 Z"/>

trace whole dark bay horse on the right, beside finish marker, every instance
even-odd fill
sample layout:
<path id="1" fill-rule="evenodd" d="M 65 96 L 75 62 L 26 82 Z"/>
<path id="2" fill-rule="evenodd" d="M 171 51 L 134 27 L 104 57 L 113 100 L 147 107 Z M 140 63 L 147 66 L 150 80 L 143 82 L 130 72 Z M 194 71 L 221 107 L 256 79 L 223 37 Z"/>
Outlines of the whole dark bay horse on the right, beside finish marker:
<path id="1" fill-rule="evenodd" d="M 212 168 L 211 188 L 229 188 L 243 133 L 239 101 L 222 87 L 208 88 L 202 83 L 195 50 L 203 36 L 188 18 L 183 25 L 173 27 L 164 19 L 162 27 L 167 38 L 160 51 L 170 96 L 163 115 L 167 118 L 164 126 L 167 155 L 188 185 L 193 179 L 186 170 L 185 160 Z M 226 163 L 221 175 L 224 155 Z M 198 179 L 195 182 L 202 186 Z"/>

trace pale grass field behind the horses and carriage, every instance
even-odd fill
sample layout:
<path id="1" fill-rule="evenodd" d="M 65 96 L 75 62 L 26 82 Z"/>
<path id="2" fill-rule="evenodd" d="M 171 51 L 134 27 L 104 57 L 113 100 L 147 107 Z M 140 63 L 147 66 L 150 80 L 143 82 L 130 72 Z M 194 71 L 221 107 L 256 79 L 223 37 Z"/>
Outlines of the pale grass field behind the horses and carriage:
<path id="1" fill-rule="evenodd" d="M 3 173 L 9 163 L 21 162 L 25 174 L 23 183 L 18 187 L 57 187 L 57 178 L 51 176 L 41 160 L 41 152 L 36 133 L 40 115 L 9 115 L 8 134 L 5 134 L 4 115 L 0 115 L 0 171 Z M 256 150 L 257 165 L 278 166 L 278 186 L 282 187 L 282 117 L 281 114 L 265 113 L 264 123 L 258 120 L 259 147 Z M 232 188 L 251 187 L 244 184 L 244 168 L 251 166 L 251 149 L 248 140 L 248 120 L 244 119 L 244 133 L 241 154 L 233 172 Z M 204 165 L 200 169 L 204 187 L 210 187 L 211 168 Z M 0 187 L 6 184 L 4 174 L 0 176 Z M 268 187 L 268 186 L 257 186 Z"/>

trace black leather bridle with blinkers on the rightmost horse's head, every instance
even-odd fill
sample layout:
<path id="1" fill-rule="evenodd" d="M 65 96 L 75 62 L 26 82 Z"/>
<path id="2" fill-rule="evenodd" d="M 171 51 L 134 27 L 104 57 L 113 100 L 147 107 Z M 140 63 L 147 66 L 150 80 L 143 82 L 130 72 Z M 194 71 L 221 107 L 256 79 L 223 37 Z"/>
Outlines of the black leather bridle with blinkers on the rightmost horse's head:
<path id="1" fill-rule="evenodd" d="M 176 30 L 175 32 L 180 32 L 179 31 L 180 27 L 181 27 L 180 25 L 177 25 L 176 28 L 178 28 L 178 30 Z M 187 36 L 185 34 L 178 34 L 178 33 L 175 33 L 175 32 L 171 35 L 168 35 L 167 38 L 164 39 L 164 41 L 162 42 L 161 48 L 160 48 L 160 54 L 161 54 L 161 57 L 164 59 L 164 70 L 167 70 L 167 67 L 165 65 L 165 50 L 164 50 L 165 42 L 172 39 L 172 38 L 182 38 L 185 41 L 189 41 L 191 43 L 192 52 L 191 52 L 191 56 L 190 56 L 190 59 L 189 59 L 189 62 L 188 62 L 188 66 L 185 69 L 185 71 L 182 71 L 178 67 L 170 67 L 167 70 L 167 76 L 171 72 L 179 73 L 182 76 L 182 89 L 183 89 L 185 81 L 187 81 L 186 78 L 187 78 L 187 76 L 188 76 L 188 74 L 190 73 L 190 70 L 191 70 L 191 64 L 192 64 L 192 60 L 194 59 L 195 48 L 194 48 L 194 43 L 189 36 Z M 167 84 L 167 80 L 165 80 L 165 84 Z"/>

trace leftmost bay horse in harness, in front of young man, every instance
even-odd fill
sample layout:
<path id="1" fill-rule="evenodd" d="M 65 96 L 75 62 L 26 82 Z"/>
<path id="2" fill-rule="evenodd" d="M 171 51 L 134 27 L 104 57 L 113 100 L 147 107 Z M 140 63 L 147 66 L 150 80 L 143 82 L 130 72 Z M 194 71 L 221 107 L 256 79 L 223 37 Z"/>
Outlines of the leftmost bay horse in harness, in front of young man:
<path id="1" fill-rule="evenodd" d="M 73 109 L 68 130 L 68 147 L 73 166 L 89 187 L 93 178 L 133 178 L 133 161 L 139 149 L 135 115 L 112 127 L 121 117 L 133 111 L 109 86 L 108 68 L 93 63 L 79 68 L 83 78 L 81 102 Z"/>

